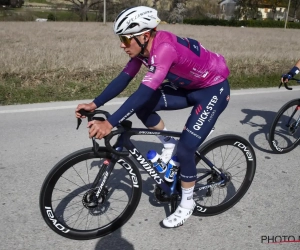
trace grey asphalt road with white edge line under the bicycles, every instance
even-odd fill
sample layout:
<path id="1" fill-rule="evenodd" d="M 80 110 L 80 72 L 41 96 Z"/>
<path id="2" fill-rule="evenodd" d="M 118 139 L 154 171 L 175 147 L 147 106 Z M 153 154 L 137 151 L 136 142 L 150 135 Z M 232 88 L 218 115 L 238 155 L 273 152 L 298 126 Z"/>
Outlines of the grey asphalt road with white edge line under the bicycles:
<path id="1" fill-rule="evenodd" d="M 279 236 L 299 240 L 300 236 L 299 147 L 276 155 L 266 140 L 276 112 L 299 97 L 299 90 L 232 91 L 211 137 L 241 135 L 257 156 L 254 181 L 233 208 L 213 217 L 191 217 L 176 229 L 162 228 L 160 221 L 168 209 L 153 202 L 153 182 L 142 171 L 144 192 L 133 217 L 111 235 L 89 241 L 55 234 L 44 223 L 38 204 L 40 187 L 53 165 L 91 146 L 85 126 L 75 129 L 74 109 L 83 101 L 0 107 L 0 249 L 300 249 L 299 242 L 267 244 L 265 240 L 269 237 L 272 242 L 276 236 L 277 241 Z M 105 108 L 114 112 L 123 101 L 114 99 Z M 180 131 L 189 109 L 160 114 L 169 130 Z M 142 126 L 135 115 L 130 120 Z M 144 139 L 139 145 L 146 150 Z M 151 140 L 157 146 L 158 140 Z"/>

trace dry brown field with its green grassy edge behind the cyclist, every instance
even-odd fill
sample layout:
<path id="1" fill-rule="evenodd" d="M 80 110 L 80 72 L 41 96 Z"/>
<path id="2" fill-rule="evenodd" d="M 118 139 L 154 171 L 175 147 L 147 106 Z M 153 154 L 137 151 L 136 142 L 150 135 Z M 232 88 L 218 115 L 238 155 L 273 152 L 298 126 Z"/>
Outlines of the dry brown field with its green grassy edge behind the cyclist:
<path id="1" fill-rule="evenodd" d="M 299 59 L 300 33 L 294 30 L 177 24 L 159 29 L 222 54 L 232 89 L 277 87 Z M 112 23 L 0 22 L 0 37 L 0 105 L 93 99 L 128 62 Z M 145 70 L 120 96 L 135 91 Z"/>

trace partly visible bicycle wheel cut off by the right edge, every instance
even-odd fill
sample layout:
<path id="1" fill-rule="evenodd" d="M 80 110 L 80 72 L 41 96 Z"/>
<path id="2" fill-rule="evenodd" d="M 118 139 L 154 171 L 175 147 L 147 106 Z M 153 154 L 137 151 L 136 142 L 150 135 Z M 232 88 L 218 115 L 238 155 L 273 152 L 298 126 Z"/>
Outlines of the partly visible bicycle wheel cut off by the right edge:
<path id="1" fill-rule="evenodd" d="M 269 132 L 271 149 L 278 154 L 293 150 L 300 138 L 300 99 L 286 103 L 278 112 Z"/>

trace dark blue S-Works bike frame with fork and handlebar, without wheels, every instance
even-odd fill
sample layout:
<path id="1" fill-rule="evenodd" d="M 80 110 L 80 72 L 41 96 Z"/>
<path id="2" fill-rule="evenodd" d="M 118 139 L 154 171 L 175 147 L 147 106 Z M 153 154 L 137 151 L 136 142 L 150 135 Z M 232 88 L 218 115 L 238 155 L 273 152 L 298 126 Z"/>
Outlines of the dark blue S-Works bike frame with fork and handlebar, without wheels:
<path id="1" fill-rule="evenodd" d="M 88 120 L 104 120 L 102 117 L 94 117 L 95 114 L 104 114 L 105 116 L 108 116 L 108 113 L 106 111 L 102 110 L 96 110 L 92 113 L 84 113 L 85 116 L 88 117 Z M 78 123 L 80 125 L 80 122 Z M 78 127 L 79 127 L 78 125 Z M 105 164 L 105 171 L 103 171 L 103 168 L 100 169 L 99 174 L 96 177 L 96 180 L 99 180 L 99 177 L 104 176 L 102 179 L 102 182 L 99 185 L 99 189 L 97 191 L 97 198 L 102 193 L 102 188 L 105 186 L 108 177 L 110 173 L 113 170 L 114 165 L 118 162 L 121 165 L 124 163 L 122 159 L 120 159 L 119 156 L 128 156 L 129 154 L 139 163 L 139 165 L 148 173 L 148 175 L 156 182 L 156 184 L 169 196 L 169 197 L 176 197 L 179 195 L 178 191 L 176 190 L 176 184 L 179 180 L 179 175 L 177 175 L 177 178 L 174 180 L 174 182 L 169 185 L 167 182 L 160 177 L 160 174 L 156 170 L 156 168 L 153 166 L 151 161 L 148 161 L 143 154 L 137 149 L 137 147 L 132 143 L 131 136 L 134 135 L 164 135 L 164 136 L 172 136 L 172 137 L 180 137 L 180 132 L 174 132 L 174 131 L 165 131 L 165 130 L 153 130 L 153 129 L 142 129 L 142 128 L 131 128 L 131 121 L 123 121 L 118 127 L 117 130 L 112 131 L 109 135 L 104 137 L 105 140 L 105 146 L 112 153 L 112 159 L 109 161 L 106 159 L 104 161 Z M 77 128 L 78 128 L 77 127 Z M 111 146 L 110 140 L 112 137 L 118 136 L 118 139 L 114 146 Z M 96 142 L 96 138 L 92 138 L 93 141 L 93 150 L 95 154 L 97 154 L 98 150 L 100 149 L 99 144 Z M 123 149 L 127 149 L 128 152 L 123 151 Z M 214 186 L 222 185 L 224 182 L 227 182 L 227 177 L 224 173 L 222 173 L 210 160 L 208 160 L 205 156 L 201 155 L 198 151 L 196 151 L 196 155 L 211 168 L 211 171 L 214 171 L 218 173 L 221 176 L 221 181 L 213 184 L 207 184 L 207 185 L 201 185 L 198 184 L 195 186 L 194 191 L 199 191 L 203 189 L 209 189 Z M 124 166 L 124 165 L 123 165 Z M 124 166 L 126 167 L 126 166 Z M 207 173 L 203 174 L 202 176 L 198 177 L 196 179 L 196 182 L 206 178 L 209 176 L 212 172 L 207 171 Z M 101 173 L 101 174 L 100 174 Z M 96 183 L 96 181 L 94 181 Z"/>

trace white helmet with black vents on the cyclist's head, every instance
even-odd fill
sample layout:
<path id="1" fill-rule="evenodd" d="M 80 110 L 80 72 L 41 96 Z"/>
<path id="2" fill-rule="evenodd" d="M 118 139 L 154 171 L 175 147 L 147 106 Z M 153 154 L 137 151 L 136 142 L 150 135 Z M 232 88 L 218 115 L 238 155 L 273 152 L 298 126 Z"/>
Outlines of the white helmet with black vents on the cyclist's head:
<path id="1" fill-rule="evenodd" d="M 157 10 L 146 6 L 123 10 L 114 22 L 114 32 L 117 35 L 138 33 L 144 29 L 154 29 L 160 23 Z"/>

